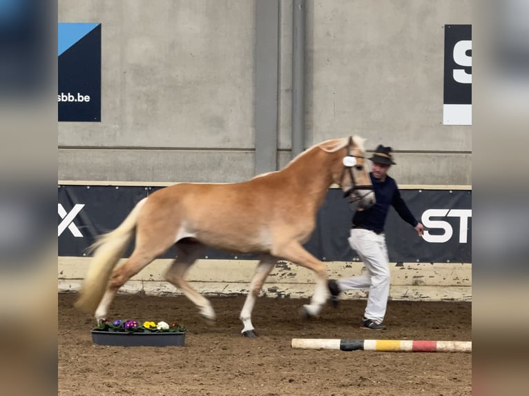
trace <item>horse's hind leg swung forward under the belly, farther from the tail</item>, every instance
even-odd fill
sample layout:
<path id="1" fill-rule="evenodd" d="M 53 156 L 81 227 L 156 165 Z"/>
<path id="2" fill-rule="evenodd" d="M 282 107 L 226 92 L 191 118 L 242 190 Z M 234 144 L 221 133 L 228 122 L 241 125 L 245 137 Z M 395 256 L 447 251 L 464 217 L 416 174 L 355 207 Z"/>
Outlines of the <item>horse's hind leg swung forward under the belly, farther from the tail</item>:
<path id="1" fill-rule="evenodd" d="M 176 259 L 165 274 L 165 279 L 175 285 L 182 293 L 195 304 L 200 315 L 206 321 L 215 321 L 215 311 L 206 297 L 193 289 L 185 276 L 187 270 L 204 253 L 206 246 L 198 241 L 182 240 L 176 244 Z"/>

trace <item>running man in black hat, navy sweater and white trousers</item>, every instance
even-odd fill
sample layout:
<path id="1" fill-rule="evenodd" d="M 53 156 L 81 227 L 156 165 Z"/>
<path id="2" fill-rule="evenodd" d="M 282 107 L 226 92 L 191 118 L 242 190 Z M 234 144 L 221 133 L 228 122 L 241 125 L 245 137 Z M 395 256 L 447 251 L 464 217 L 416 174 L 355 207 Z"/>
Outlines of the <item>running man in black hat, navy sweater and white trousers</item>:
<path id="1" fill-rule="evenodd" d="M 338 306 L 338 295 L 349 289 L 369 288 L 369 297 L 363 317 L 362 328 L 384 330 L 387 297 L 389 295 L 389 258 L 384 235 L 384 224 L 389 206 L 393 206 L 398 215 L 409 223 L 419 236 L 423 235 L 423 225 L 419 223 L 401 198 L 395 180 L 387 175 L 392 165 L 392 148 L 378 145 L 372 161 L 370 172 L 376 204 L 363 211 L 356 211 L 353 216 L 351 236 L 348 241 L 363 261 L 367 273 L 356 277 L 329 279 L 327 286 L 331 293 L 331 303 Z"/>

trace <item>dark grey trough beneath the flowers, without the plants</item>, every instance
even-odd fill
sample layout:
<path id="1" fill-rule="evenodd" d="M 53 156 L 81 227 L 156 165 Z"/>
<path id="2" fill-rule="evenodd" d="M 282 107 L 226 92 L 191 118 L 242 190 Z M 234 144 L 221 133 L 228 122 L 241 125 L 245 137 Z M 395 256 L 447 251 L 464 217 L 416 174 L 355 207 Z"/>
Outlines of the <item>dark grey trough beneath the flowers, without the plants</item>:
<path id="1" fill-rule="evenodd" d="M 139 333 L 92 330 L 92 341 L 110 346 L 184 346 L 186 332 Z"/>

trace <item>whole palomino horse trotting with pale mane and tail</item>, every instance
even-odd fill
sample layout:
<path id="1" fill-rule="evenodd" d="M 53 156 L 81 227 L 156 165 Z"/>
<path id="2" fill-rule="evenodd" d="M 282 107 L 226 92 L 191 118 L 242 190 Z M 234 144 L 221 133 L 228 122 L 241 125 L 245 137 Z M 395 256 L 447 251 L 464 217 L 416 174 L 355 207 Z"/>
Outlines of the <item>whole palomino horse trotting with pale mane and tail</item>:
<path id="1" fill-rule="evenodd" d="M 316 273 L 316 287 L 303 315 L 316 316 L 327 299 L 325 264 L 302 247 L 316 226 L 316 212 L 327 189 L 338 184 L 358 202 L 357 210 L 375 202 L 364 163 L 361 137 L 324 141 L 302 152 L 284 169 L 233 184 L 180 183 L 138 202 L 115 230 L 102 235 L 75 306 L 106 318 L 117 290 L 151 261 L 175 245 L 177 257 L 166 280 L 182 290 L 204 319 L 215 311 L 208 299 L 185 280 L 205 246 L 233 253 L 261 253 L 240 319 L 242 334 L 255 337 L 251 311 L 264 280 L 280 259 Z M 135 236 L 131 257 L 113 269 Z"/>

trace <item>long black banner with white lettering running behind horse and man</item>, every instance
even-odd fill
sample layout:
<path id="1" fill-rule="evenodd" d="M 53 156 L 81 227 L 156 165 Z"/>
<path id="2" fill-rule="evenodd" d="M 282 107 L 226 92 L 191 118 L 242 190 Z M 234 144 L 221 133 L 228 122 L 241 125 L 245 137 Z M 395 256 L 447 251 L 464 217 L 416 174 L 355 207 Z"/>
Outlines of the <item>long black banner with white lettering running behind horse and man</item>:
<path id="1" fill-rule="evenodd" d="M 83 256 L 97 235 L 113 230 L 140 199 L 162 187 L 59 186 L 59 256 Z M 389 210 L 385 235 L 392 262 L 472 262 L 472 192 L 469 190 L 401 190 L 416 219 L 426 228 L 419 237 L 394 209 Z M 305 248 L 323 261 L 353 261 L 347 238 L 354 212 L 343 192 L 331 189 L 317 216 Z M 130 255 L 132 247 L 126 252 Z M 174 257 L 169 250 L 166 258 Z M 208 249 L 209 259 L 256 259 Z"/>

